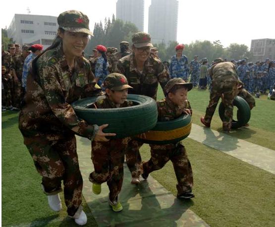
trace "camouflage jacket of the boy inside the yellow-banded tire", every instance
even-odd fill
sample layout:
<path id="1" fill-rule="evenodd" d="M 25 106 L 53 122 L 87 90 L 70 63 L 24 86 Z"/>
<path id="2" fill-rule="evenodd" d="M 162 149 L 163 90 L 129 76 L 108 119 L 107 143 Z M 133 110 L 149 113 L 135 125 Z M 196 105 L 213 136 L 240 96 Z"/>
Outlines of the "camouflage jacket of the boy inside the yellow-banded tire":
<path id="1" fill-rule="evenodd" d="M 179 107 L 175 105 L 167 96 L 165 99 L 157 102 L 158 107 L 158 121 L 169 121 L 175 118 L 178 118 L 180 115 L 184 114 L 184 109 L 189 109 L 192 115 L 192 108 L 189 101 L 186 99 L 185 106 Z M 166 144 L 166 145 L 150 145 L 152 149 L 156 150 L 165 150 L 165 149 L 174 149 L 177 145 L 181 143 L 178 142 L 176 144 Z"/>

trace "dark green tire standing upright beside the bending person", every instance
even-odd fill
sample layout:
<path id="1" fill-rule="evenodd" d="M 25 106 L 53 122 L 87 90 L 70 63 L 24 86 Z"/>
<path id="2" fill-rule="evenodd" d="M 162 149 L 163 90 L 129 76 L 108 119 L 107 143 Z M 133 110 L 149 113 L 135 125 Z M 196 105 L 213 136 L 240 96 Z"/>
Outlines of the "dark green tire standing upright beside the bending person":
<path id="1" fill-rule="evenodd" d="M 231 128 L 240 128 L 248 123 L 251 116 L 251 111 L 248 103 L 241 97 L 235 96 L 233 105 L 238 108 L 237 119 L 232 121 Z M 223 121 L 224 118 L 224 105 L 221 102 L 219 106 L 220 119 Z"/>

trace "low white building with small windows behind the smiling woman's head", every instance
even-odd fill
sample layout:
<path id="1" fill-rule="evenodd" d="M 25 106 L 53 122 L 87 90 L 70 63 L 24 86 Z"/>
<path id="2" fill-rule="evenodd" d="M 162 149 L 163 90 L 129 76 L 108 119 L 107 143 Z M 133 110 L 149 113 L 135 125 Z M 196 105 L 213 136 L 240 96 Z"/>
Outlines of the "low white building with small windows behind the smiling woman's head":
<path id="1" fill-rule="evenodd" d="M 7 36 L 21 46 L 42 44 L 43 49 L 46 49 L 52 45 L 57 29 L 57 17 L 15 14 L 8 27 Z"/>

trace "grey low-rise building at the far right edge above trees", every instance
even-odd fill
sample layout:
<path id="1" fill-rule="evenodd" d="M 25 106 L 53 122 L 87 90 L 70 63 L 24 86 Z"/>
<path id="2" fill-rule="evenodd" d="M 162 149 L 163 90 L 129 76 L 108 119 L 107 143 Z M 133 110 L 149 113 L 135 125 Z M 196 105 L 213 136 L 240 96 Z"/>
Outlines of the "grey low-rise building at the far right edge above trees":
<path id="1" fill-rule="evenodd" d="M 250 49 L 253 53 L 253 62 L 265 61 L 266 58 L 275 60 L 275 39 L 252 39 Z"/>

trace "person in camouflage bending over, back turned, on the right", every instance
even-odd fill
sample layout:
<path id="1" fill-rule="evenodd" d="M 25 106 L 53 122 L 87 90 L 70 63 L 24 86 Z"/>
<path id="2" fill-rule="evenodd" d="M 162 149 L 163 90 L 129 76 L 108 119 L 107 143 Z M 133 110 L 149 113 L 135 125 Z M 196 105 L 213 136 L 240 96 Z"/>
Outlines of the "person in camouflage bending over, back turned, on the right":
<path id="1" fill-rule="evenodd" d="M 222 128 L 224 132 L 229 132 L 232 125 L 233 117 L 233 100 L 237 95 L 238 75 L 234 64 L 223 62 L 221 58 L 215 59 L 215 64 L 210 68 L 209 75 L 212 78 L 212 90 L 210 93 L 209 105 L 206 114 L 201 117 L 201 122 L 210 127 L 212 117 L 219 103 L 220 97 L 223 96 L 224 118 Z"/>

